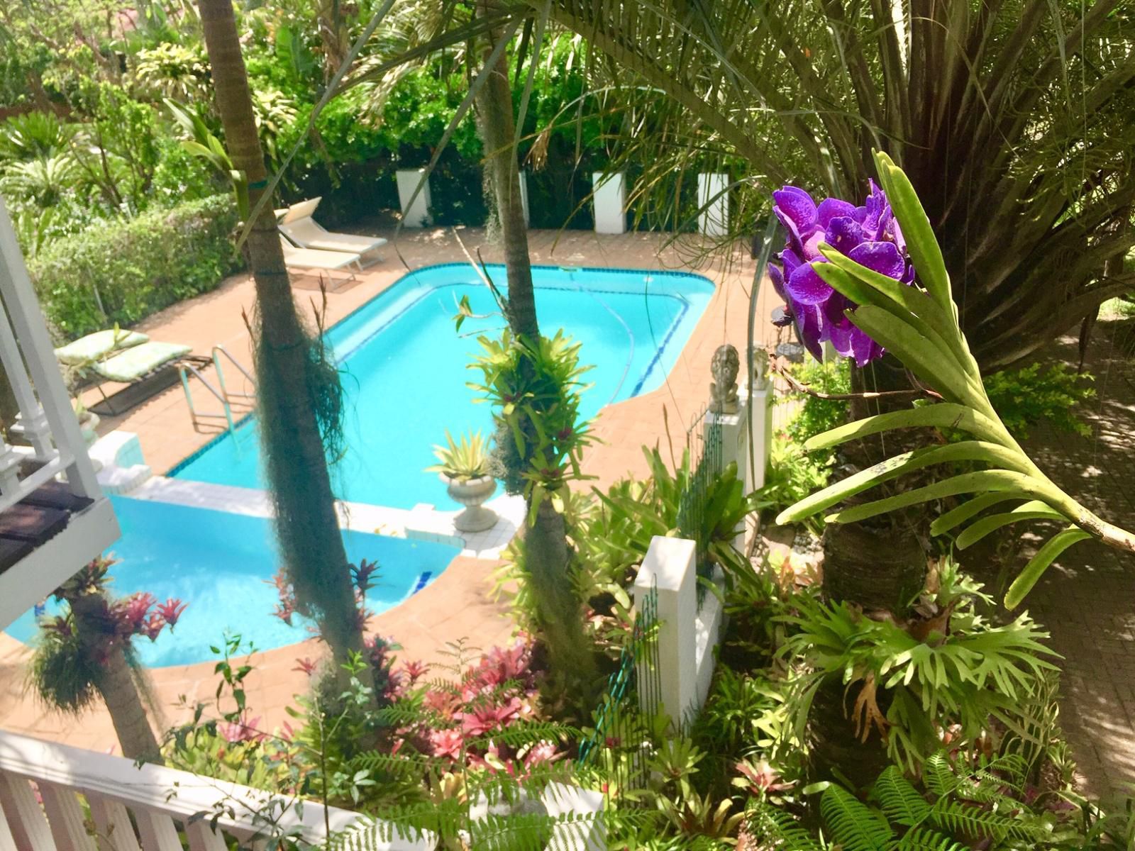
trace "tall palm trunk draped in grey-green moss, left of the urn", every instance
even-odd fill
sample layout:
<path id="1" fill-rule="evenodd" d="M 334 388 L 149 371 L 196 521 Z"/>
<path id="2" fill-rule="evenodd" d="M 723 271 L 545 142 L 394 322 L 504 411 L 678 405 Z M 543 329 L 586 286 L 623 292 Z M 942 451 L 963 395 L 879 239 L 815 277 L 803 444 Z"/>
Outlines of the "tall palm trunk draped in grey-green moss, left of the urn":
<path id="1" fill-rule="evenodd" d="M 244 172 L 254 208 L 268 175 L 233 5 L 230 0 L 201 0 L 200 8 L 226 144 L 233 165 Z M 323 363 L 292 298 L 270 203 L 253 222 L 246 252 L 257 289 L 258 414 L 276 532 L 299 608 L 317 620 L 336 674 L 345 682 L 340 666 L 362 652 L 363 640 L 327 470 L 327 423 L 320 428 L 312 399 Z"/>

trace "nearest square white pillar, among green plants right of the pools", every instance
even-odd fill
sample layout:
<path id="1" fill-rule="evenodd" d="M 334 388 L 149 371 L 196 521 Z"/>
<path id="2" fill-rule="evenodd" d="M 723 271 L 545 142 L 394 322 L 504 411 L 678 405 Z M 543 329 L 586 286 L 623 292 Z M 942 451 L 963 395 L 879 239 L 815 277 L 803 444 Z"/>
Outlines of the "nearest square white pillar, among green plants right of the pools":
<path id="1" fill-rule="evenodd" d="M 698 708 L 696 550 L 697 544 L 691 540 L 655 536 L 634 579 L 636 604 L 641 604 L 651 590 L 657 591 L 659 697 L 662 708 L 679 728 Z M 647 676 L 649 674 L 642 672 L 640 682 L 645 682 Z M 639 696 L 644 697 L 641 691 Z M 654 711 L 656 708 L 642 707 L 645 711 Z"/>

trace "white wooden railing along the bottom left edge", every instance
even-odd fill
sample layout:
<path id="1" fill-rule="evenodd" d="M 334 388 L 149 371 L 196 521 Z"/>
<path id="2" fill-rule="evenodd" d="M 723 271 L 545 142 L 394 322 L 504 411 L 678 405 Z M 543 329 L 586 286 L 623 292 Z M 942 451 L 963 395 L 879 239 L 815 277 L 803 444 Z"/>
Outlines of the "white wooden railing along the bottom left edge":
<path id="1" fill-rule="evenodd" d="M 550 817 L 569 819 L 553 825 L 548 849 L 606 850 L 602 793 L 549 783 L 543 802 Z M 0 851 L 228 851 L 234 843 L 261 851 L 274 840 L 326 845 L 336 834 L 348 850 L 438 848 L 431 834 L 375 824 L 351 810 L 0 733 Z"/>

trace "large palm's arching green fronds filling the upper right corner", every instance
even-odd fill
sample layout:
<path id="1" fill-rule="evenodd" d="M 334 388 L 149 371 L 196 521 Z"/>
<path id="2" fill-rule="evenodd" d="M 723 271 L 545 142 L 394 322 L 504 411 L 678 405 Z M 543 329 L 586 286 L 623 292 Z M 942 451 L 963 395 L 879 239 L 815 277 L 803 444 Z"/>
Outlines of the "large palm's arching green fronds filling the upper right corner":
<path id="1" fill-rule="evenodd" d="M 550 16 L 609 59 L 589 67 L 624 126 L 653 121 L 623 138 L 641 186 L 692 151 L 764 197 L 804 183 L 855 199 L 872 149 L 888 151 L 926 207 L 985 368 L 1135 285 L 1104 273 L 1135 245 L 1123 0 L 552 0 Z"/>

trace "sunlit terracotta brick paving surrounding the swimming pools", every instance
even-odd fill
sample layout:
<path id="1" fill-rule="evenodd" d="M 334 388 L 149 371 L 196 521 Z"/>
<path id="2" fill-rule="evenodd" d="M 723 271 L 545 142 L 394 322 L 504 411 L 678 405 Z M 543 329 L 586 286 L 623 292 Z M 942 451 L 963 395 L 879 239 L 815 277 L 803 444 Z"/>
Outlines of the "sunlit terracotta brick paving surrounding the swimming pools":
<path id="1" fill-rule="evenodd" d="M 404 231 L 398 239 L 400 260 L 392 246 L 384 260 L 359 275 L 358 283 L 327 295 L 327 322 L 334 323 L 354 309 L 393 285 L 409 269 L 445 262 L 465 262 L 455 235 L 468 251 L 478 250 L 486 262 L 499 262 L 502 253 L 486 243 L 481 228 L 434 228 Z M 390 234 L 379 235 L 390 236 Z M 747 246 L 738 246 L 730 256 L 714 262 L 689 259 L 699 253 L 696 237 L 678 245 L 665 245 L 658 234 L 596 235 L 590 231 L 533 230 L 529 234 L 533 263 L 588 266 L 636 269 L 673 269 L 697 271 L 708 277 L 717 289 L 684 347 L 666 384 L 649 394 L 604 408 L 595 423 L 595 433 L 603 443 L 589 449 L 585 467 L 597 477 L 603 487 L 628 472 L 646 473 L 641 446 L 666 446 L 670 437 L 681 452 L 689 420 L 705 404 L 708 395 L 709 359 L 714 349 L 731 342 L 743 351 L 748 323 L 748 290 L 754 276 L 754 262 Z M 404 263 L 403 263 L 404 261 Z M 314 278 L 297 281 L 296 301 L 309 314 L 319 301 Z M 768 315 L 774 306 L 771 287 L 762 287 L 758 318 Z M 239 275 L 227 279 L 212 293 L 177 304 L 137 326 L 153 339 L 183 343 L 194 353 L 208 355 L 215 344 L 224 345 L 241 363 L 251 365 L 250 337 L 244 312 L 254 304 L 251 278 Z M 543 318 L 549 328 L 554 318 Z M 764 321 L 757 328 L 772 331 Z M 208 376 L 211 369 L 205 370 Z M 229 384 L 235 374 L 226 371 Z M 110 391 L 111 388 L 108 388 Z M 194 387 L 199 408 L 205 410 L 210 397 L 200 386 Z M 87 403 L 95 399 L 89 398 Z M 216 407 L 216 406 L 213 406 Z M 111 429 L 138 435 L 142 450 L 154 473 L 163 473 L 182 458 L 212 439 L 219 428 L 194 429 L 184 393 L 179 385 L 129 411 L 125 416 L 104 418 L 100 432 Z M 666 455 L 669 457 L 669 455 Z M 429 587 L 390 612 L 375 617 L 369 627 L 402 646 L 402 659 L 438 662 L 446 642 L 461 638 L 489 648 L 508 641 L 513 623 L 506 607 L 488 599 L 490 574 L 498 562 L 459 557 Z M 297 634 L 297 639 L 302 634 Z M 254 672 L 247 681 L 251 716 L 271 728 L 286 721 L 284 708 L 292 697 L 304 691 L 306 676 L 296 668 L 296 659 L 316 658 L 321 648 L 314 641 L 257 654 Z M 92 708 L 79 718 L 45 714 L 25 690 L 27 649 L 0 633 L 0 728 L 17 733 L 106 750 L 116 742 L 110 718 L 101 707 Z M 160 728 L 184 721 L 187 713 L 177 703 L 184 696 L 192 705 L 211 700 L 216 688 L 212 663 L 157 668 L 151 672 L 157 703 L 162 710 Z"/>

